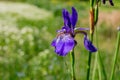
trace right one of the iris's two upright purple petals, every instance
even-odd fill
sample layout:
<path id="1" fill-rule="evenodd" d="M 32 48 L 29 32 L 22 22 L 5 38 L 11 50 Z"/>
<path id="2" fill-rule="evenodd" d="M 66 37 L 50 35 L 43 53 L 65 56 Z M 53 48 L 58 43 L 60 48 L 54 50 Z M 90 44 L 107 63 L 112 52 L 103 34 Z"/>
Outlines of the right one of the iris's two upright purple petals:
<path id="1" fill-rule="evenodd" d="M 78 20 L 77 11 L 74 7 L 72 7 L 71 24 L 72 24 L 73 29 L 75 28 L 77 20 Z"/>

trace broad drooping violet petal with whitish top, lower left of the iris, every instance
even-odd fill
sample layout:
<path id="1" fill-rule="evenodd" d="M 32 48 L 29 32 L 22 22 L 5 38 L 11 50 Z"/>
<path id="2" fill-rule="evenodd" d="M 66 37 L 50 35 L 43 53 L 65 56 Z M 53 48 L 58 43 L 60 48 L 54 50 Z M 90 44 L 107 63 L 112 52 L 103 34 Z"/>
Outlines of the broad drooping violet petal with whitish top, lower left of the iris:
<path id="1" fill-rule="evenodd" d="M 59 36 L 56 40 L 55 52 L 60 56 L 66 56 L 75 46 L 74 38 L 69 34 Z"/>

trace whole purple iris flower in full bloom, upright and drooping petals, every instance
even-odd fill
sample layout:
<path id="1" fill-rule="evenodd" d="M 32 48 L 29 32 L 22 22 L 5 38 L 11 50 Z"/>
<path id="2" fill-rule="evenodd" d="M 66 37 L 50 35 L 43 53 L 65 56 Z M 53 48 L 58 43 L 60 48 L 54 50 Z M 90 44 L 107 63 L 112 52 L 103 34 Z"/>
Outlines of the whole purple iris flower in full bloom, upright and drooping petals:
<path id="1" fill-rule="evenodd" d="M 77 44 L 74 39 L 75 35 L 78 33 L 84 34 L 84 46 L 90 52 L 96 52 L 97 49 L 88 40 L 86 30 L 88 28 L 76 28 L 76 23 L 78 20 L 78 14 L 74 7 L 72 7 L 72 14 L 70 14 L 66 9 L 63 9 L 63 20 L 64 26 L 62 29 L 58 30 L 57 37 L 52 41 L 51 45 L 55 48 L 55 52 L 60 56 L 66 56 Z"/>

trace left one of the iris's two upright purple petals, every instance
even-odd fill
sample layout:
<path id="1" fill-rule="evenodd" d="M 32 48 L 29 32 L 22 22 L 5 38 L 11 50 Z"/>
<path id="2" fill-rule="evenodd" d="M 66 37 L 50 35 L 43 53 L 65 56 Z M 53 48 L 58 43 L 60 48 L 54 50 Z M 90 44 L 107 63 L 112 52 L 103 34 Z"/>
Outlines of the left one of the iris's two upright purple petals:
<path id="1" fill-rule="evenodd" d="M 69 12 L 66 9 L 63 9 L 62 14 L 63 14 L 63 19 L 64 19 L 64 26 L 70 27 L 71 22 L 70 22 L 70 14 L 69 14 Z"/>

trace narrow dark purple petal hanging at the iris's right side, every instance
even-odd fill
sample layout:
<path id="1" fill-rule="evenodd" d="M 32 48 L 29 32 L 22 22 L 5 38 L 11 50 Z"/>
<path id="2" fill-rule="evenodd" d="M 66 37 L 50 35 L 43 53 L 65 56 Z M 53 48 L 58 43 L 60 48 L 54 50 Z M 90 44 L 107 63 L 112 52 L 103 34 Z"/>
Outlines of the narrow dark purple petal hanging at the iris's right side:
<path id="1" fill-rule="evenodd" d="M 84 46 L 90 52 L 96 52 L 97 48 L 92 44 L 90 40 L 87 39 L 87 36 L 84 37 Z"/>

